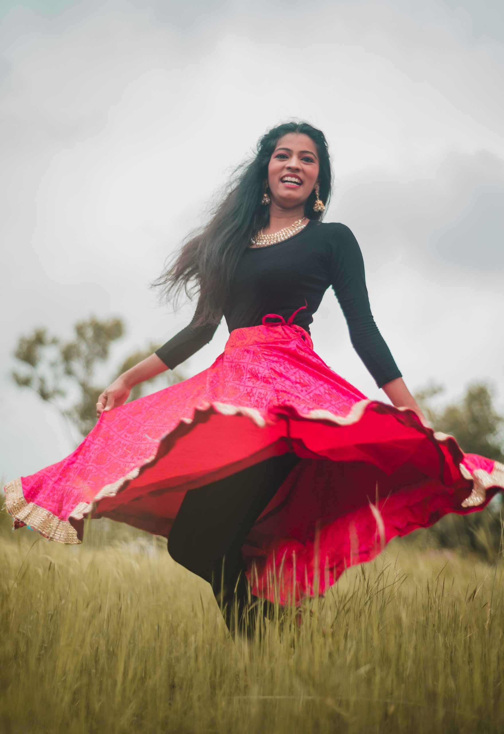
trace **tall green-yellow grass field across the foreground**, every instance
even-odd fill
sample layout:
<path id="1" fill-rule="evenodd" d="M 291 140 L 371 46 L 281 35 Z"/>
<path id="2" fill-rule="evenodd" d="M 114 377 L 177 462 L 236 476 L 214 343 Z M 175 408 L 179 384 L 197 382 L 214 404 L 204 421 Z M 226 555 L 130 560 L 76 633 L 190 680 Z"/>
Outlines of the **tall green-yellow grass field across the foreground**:
<path id="1" fill-rule="evenodd" d="M 2 533 L 2 733 L 504 730 L 502 555 L 394 541 L 300 628 L 233 642 L 166 543 L 104 547 L 100 523 L 77 547 Z"/>

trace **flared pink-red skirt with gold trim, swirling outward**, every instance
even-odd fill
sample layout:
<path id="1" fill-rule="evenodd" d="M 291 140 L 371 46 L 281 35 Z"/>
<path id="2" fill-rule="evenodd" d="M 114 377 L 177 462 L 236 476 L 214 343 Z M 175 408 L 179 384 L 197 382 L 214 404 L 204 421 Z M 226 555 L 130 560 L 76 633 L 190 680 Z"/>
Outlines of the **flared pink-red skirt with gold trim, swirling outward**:
<path id="1" fill-rule="evenodd" d="M 7 509 L 63 543 L 81 542 L 84 517 L 168 537 L 186 492 L 287 451 L 302 461 L 242 548 L 252 592 L 282 602 L 504 487 L 504 465 L 366 399 L 282 319 L 235 329 L 200 374 L 103 412 L 73 454 L 5 487 Z"/>

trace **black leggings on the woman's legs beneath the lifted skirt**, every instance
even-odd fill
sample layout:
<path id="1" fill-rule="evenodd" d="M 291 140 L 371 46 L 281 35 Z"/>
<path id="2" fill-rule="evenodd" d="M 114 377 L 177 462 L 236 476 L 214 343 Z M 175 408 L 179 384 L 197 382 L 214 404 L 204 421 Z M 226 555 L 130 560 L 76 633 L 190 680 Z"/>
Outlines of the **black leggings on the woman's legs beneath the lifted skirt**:
<path id="1" fill-rule="evenodd" d="M 183 498 L 169 533 L 169 554 L 211 584 L 228 627 L 234 604 L 239 615 L 249 595 L 244 539 L 300 460 L 296 454 L 271 457 Z"/>

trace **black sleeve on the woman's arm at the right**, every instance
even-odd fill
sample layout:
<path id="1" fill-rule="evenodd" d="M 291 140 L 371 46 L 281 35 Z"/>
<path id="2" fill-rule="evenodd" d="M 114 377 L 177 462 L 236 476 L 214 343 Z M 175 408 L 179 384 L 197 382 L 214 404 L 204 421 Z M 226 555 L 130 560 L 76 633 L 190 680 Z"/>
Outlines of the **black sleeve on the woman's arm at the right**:
<path id="1" fill-rule="evenodd" d="M 371 313 L 359 243 L 346 225 L 332 234 L 331 285 L 348 324 L 351 344 L 379 388 L 402 377 Z"/>

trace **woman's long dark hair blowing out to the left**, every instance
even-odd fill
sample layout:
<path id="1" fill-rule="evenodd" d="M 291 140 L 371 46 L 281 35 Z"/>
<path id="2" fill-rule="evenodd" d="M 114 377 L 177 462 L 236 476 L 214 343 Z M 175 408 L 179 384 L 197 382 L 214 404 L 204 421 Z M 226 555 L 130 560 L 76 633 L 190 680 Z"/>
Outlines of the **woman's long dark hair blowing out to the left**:
<path id="1" fill-rule="evenodd" d="M 271 128 L 259 139 L 255 157 L 235 171 L 221 202 L 213 209 L 210 221 L 189 235 L 175 261 L 167 265 L 154 281 L 167 301 L 175 302 L 180 291 L 192 297 L 199 294 L 193 326 L 216 324 L 229 294 L 230 280 L 238 260 L 253 237 L 269 220 L 269 207 L 261 206 L 268 165 L 278 140 L 288 133 L 310 137 L 317 147 L 320 197 L 327 205 L 331 195 L 332 170 L 324 133 L 309 123 L 290 122 Z M 313 211 L 315 192 L 304 205 L 304 216 L 321 219 Z"/>

